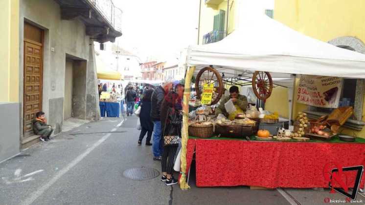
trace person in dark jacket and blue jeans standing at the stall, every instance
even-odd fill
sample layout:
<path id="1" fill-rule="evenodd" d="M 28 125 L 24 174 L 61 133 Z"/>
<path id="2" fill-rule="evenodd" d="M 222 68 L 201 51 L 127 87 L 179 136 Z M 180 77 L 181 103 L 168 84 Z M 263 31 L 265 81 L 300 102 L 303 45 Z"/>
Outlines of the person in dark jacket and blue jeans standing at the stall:
<path id="1" fill-rule="evenodd" d="M 161 104 L 167 93 L 172 89 L 172 82 L 164 82 L 156 87 L 151 97 L 151 119 L 153 121 L 153 160 L 161 160 L 163 139 L 161 138 Z M 161 140 L 162 139 L 162 140 Z"/>

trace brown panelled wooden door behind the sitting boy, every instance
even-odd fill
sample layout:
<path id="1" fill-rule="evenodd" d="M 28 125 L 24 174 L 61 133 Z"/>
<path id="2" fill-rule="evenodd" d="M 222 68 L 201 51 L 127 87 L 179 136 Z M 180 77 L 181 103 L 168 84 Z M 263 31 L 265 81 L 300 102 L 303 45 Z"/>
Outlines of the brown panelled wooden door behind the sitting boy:
<path id="1" fill-rule="evenodd" d="M 24 23 L 23 134 L 33 135 L 32 121 L 42 111 L 43 30 Z"/>

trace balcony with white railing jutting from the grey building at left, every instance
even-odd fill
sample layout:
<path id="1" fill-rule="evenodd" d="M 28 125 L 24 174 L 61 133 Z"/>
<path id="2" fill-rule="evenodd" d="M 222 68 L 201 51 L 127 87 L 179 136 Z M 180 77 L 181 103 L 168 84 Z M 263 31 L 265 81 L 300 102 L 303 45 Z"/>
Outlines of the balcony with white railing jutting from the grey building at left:
<path id="1" fill-rule="evenodd" d="M 122 11 L 112 0 L 56 0 L 62 20 L 79 18 L 86 25 L 86 35 L 99 43 L 114 42 L 122 35 Z"/>

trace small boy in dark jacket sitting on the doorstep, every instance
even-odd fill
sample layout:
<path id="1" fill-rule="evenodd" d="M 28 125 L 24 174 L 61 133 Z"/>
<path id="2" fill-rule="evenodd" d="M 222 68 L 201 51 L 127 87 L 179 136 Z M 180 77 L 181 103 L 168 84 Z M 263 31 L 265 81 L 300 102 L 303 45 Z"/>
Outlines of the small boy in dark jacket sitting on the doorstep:
<path id="1" fill-rule="evenodd" d="M 51 125 L 47 124 L 44 112 L 37 112 L 36 118 L 33 120 L 33 131 L 36 135 L 41 135 L 40 140 L 47 142 L 53 132 Z"/>

